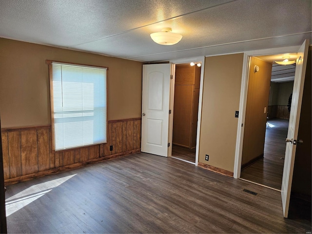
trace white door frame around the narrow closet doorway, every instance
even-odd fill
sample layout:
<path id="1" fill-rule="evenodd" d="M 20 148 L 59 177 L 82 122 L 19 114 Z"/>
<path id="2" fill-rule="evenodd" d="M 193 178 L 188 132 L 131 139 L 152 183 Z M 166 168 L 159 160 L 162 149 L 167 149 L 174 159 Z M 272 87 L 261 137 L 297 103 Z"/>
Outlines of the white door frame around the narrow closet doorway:
<path id="1" fill-rule="evenodd" d="M 189 62 L 200 62 L 200 84 L 199 84 L 199 101 L 198 101 L 198 116 L 197 116 L 197 134 L 196 134 L 196 153 L 195 153 L 195 166 L 198 166 L 198 154 L 199 154 L 199 137 L 200 137 L 200 124 L 201 124 L 201 110 L 202 110 L 202 99 L 203 99 L 203 84 L 204 84 L 204 70 L 205 70 L 205 57 L 193 57 L 188 59 L 173 59 L 169 61 L 174 64 L 174 75 L 173 82 L 170 87 L 170 104 L 169 108 L 171 110 L 171 115 L 169 115 L 169 136 L 168 142 L 170 142 L 170 147 L 168 149 L 168 157 L 171 157 L 172 153 L 172 133 L 173 133 L 173 120 L 174 120 L 174 98 L 175 98 L 175 73 L 176 64 L 189 63 Z"/>

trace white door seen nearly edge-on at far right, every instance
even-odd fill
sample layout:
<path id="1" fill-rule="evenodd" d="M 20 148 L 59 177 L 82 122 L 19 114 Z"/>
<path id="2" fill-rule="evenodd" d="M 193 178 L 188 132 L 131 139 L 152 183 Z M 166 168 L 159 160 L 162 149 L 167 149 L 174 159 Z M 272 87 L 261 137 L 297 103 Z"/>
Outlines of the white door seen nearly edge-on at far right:
<path id="1" fill-rule="evenodd" d="M 292 90 L 292 106 L 289 117 L 289 127 L 286 139 L 286 152 L 282 180 L 282 203 L 284 217 L 288 216 L 289 201 L 292 189 L 292 173 L 301 111 L 304 78 L 306 74 L 309 40 L 305 40 L 297 54 L 296 71 Z M 305 142 L 311 144 L 311 142 Z"/>

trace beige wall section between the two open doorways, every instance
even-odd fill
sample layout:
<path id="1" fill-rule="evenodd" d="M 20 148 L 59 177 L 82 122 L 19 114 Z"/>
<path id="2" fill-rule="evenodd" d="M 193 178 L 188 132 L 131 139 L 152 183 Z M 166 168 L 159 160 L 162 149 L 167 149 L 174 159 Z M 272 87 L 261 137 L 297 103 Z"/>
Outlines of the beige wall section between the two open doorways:
<path id="1" fill-rule="evenodd" d="M 199 162 L 230 172 L 234 157 L 243 54 L 207 57 L 203 84 Z M 205 155 L 209 155 L 209 161 Z"/>

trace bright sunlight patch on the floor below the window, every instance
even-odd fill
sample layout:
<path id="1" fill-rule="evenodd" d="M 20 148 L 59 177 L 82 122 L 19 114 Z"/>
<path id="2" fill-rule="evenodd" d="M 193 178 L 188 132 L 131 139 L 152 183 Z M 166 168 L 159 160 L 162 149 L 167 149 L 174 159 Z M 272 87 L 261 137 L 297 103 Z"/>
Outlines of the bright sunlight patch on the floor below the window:
<path id="1" fill-rule="evenodd" d="M 12 215 L 23 207 L 29 205 L 39 197 L 49 193 L 53 188 L 58 187 L 75 175 L 49 180 L 40 184 L 33 185 L 20 193 L 13 195 L 5 200 L 6 216 Z"/>

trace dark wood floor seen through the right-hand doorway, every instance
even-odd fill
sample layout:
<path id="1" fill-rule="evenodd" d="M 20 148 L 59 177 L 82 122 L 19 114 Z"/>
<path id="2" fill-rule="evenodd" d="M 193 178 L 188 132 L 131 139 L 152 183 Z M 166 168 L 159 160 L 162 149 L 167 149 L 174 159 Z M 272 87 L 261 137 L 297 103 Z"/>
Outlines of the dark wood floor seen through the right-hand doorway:
<path id="1" fill-rule="evenodd" d="M 269 119 L 264 157 L 242 170 L 240 177 L 274 189 L 281 189 L 288 119 Z M 282 159 L 281 159 L 282 158 Z"/>

